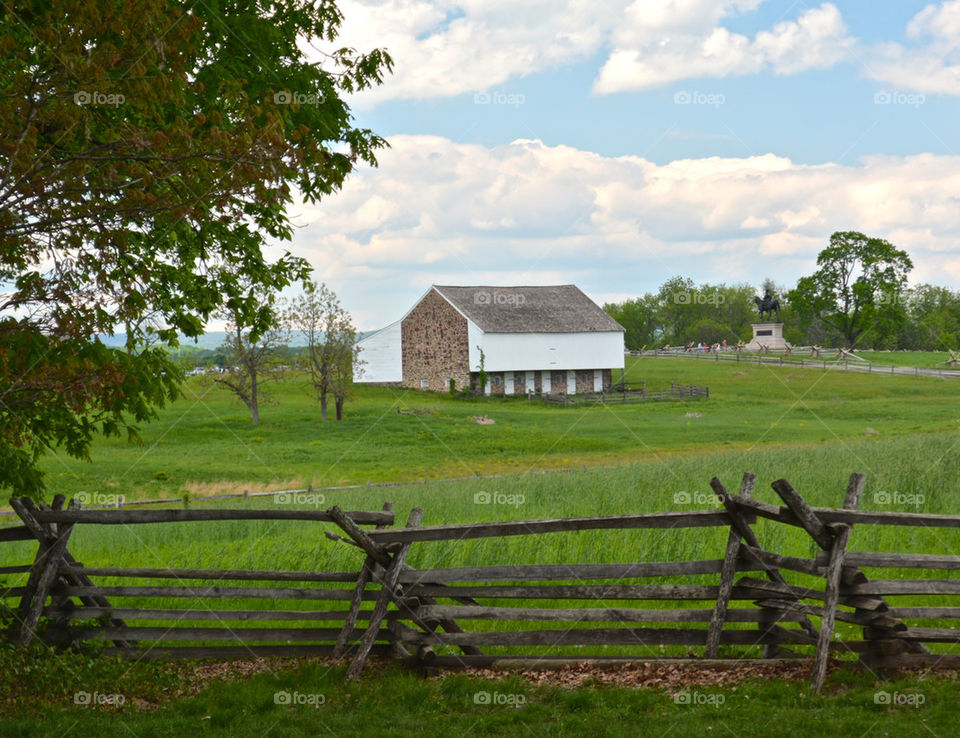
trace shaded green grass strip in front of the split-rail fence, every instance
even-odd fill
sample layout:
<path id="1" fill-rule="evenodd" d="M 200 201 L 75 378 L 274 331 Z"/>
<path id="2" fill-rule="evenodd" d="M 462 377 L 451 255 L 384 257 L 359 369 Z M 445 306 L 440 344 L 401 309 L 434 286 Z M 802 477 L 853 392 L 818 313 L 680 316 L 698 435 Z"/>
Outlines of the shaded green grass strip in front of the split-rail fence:
<path id="1" fill-rule="evenodd" d="M 74 666 L 74 665 L 70 665 Z M 345 684 L 343 667 L 303 664 L 249 680 L 214 682 L 198 695 L 169 702 L 177 684 L 171 669 L 140 664 L 91 672 L 58 668 L 44 697 L 4 706 L 8 736 L 102 735 L 727 735 L 820 736 L 953 735 L 957 684 L 950 678 L 911 677 L 877 684 L 869 675 L 834 674 L 824 695 L 804 682 L 752 680 L 736 686 L 694 687 L 699 704 L 683 704 L 658 688 L 534 686 L 517 676 L 496 680 L 448 676 L 425 680 L 398 668 L 372 671 Z M 3 677 L 0 677 L 2 679 Z M 79 691 L 120 694 L 120 710 L 75 706 Z M 686 691 L 686 690 L 684 690 Z M 897 693 L 912 705 L 877 704 Z M 278 705 L 277 693 L 319 695 L 323 704 Z M 507 704 L 478 704 L 489 694 Z M 494 697 L 497 695 L 497 697 Z M 154 710 L 138 712 L 134 697 Z M 682 699 L 682 698 L 681 698 Z M 142 704 L 142 703 L 141 703 Z"/>

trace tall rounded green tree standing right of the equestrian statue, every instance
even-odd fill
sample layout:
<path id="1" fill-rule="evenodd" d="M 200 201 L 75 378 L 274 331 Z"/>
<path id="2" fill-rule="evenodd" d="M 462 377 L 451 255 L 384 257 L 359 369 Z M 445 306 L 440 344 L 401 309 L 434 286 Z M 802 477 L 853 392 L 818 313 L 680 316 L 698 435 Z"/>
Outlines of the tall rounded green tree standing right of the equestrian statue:
<path id="1" fill-rule="evenodd" d="M 885 336 L 899 330 L 906 317 L 903 290 L 913 268 L 906 251 L 881 238 L 837 232 L 817 266 L 790 292 L 797 312 L 839 331 L 847 348 L 867 331 Z"/>

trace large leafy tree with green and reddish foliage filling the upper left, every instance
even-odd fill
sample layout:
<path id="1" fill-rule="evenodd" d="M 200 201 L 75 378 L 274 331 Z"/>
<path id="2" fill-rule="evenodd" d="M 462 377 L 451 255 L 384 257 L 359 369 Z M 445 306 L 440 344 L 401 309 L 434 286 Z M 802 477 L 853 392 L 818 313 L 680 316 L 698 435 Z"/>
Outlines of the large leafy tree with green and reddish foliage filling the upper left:
<path id="1" fill-rule="evenodd" d="M 223 305 L 265 330 L 239 275 L 307 275 L 263 246 L 290 238 L 296 194 L 336 191 L 384 145 L 341 96 L 390 59 L 335 49 L 340 22 L 331 0 L 0 7 L 0 486 L 38 493 L 45 449 L 82 457 L 172 398 L 150 340 Z M 118 326 L 127 351 L 96 340 Z"/>

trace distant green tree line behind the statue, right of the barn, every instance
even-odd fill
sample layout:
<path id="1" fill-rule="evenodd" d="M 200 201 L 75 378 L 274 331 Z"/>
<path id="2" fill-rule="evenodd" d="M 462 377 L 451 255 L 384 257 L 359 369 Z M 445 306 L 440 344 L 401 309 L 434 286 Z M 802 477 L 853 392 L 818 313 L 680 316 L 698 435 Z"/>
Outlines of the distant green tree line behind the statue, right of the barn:
<path id="1" fill-rule="evenodd" d="M 753 337 L 754 298 L 769 289 L 780 302 L 784 337 L 794 345 L 920 351 L 960 346 L 960 291 L 930 284 L 908 288 L 913 264 L 887 241 L 834 233 L 817 267 L 792 288 L 770 279 L 758 289 L 673 277 L 656 292 L 608 303 L 604 310 L 626 329 L 631 350 L 736 344 Z"/>

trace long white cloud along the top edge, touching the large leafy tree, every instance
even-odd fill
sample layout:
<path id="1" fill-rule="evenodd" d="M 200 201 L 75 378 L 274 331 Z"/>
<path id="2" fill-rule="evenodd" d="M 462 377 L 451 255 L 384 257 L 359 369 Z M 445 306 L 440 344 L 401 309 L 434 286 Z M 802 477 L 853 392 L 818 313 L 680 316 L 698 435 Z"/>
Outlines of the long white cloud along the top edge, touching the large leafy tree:
<path id="1" fill-rule="evenodd" d="M 354 101 L 369 107 L 482 92 L 600 53 L 608 58 L 595 81 L 599 93 L 763 70 L 796 74 L 832 66 L 853 43 L 831 3 L 753 39 L 722 25 L 762 2 L 344 0 L 337 46 L 385 47 L 393 56 L 386 84 Z"/>

